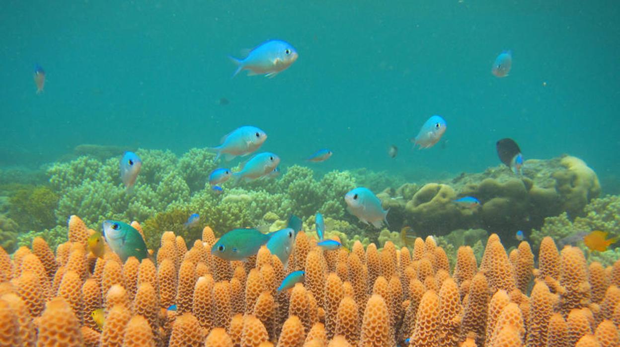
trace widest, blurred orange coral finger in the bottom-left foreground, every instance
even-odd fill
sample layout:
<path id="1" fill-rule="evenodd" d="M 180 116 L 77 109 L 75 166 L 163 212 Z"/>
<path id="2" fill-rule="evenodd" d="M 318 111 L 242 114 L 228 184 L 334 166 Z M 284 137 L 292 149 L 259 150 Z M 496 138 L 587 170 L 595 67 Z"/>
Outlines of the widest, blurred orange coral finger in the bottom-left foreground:
<path id="1" fill-rule="evenodd" d="M 69 304 L 60 297 L 48 301 L 38 321 L 37 345 L 77 347 L 82 344 L 78 318 L 73 314 Z"/>

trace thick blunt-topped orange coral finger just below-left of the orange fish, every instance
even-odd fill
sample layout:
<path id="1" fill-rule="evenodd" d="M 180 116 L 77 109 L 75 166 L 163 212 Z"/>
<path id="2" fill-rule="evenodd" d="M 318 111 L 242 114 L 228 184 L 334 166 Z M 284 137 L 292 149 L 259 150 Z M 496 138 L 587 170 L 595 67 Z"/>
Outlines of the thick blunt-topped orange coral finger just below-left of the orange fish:
<path id="1" fill-rule="evenodd" d="M 565 289 L 560 295 L 562 314 L 567 315 L 572 309 L 586 307 L 590 303 L 588 266 L 579 248 L 567 246 L 562 250 L 560 276 L 560 284 Z"/>

